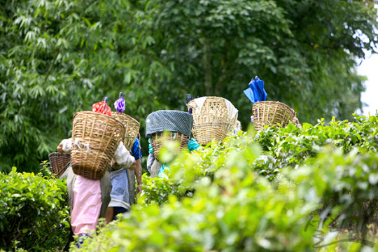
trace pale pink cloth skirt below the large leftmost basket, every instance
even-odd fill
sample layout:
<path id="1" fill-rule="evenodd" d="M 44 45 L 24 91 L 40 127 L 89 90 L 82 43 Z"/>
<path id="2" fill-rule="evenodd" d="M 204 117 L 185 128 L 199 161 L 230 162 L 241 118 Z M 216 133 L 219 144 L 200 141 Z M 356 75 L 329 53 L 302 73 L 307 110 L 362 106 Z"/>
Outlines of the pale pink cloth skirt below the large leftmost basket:
<path id="1" fill-rule="evenodd" d="M 100 181 L 77 176 L 73 185 L 71 226 L 74 235 L 93 235 L 101 211 Z"/>

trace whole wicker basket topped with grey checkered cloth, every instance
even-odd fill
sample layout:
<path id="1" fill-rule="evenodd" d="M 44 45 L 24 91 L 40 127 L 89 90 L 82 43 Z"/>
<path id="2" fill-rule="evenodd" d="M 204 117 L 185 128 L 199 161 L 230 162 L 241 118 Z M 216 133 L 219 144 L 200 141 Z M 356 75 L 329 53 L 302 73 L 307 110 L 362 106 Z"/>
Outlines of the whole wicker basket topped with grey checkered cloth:
<path id="1" fill-rule="evenodd" d="M 146 118 L 146 137 L 151 139 L 155 158 L 159 161 L 160 149 L 165 141 L 179 141 L 179 151 L 188 148 L 192 127 L 193 116 L 187 112 L 165 110 L 149 114 Z"/>

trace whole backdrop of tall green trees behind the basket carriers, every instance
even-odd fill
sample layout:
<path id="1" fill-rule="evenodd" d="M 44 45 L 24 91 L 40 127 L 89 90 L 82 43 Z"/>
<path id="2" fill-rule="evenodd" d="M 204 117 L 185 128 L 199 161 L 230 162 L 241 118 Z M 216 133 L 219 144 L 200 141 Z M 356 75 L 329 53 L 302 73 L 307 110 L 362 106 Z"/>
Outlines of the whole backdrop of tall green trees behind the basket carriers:
<path id="1" fill-rule="evenodd" d="M 141 132 L 152 111 L 186 110 L 188 92 L 228 98 L 246 125 L 255 75 L 302 121 L 350 119 L 376 12 L 357 0 L 0 1 L 0 169 L 36 172 L 76 111 L 120 91 Z"/>

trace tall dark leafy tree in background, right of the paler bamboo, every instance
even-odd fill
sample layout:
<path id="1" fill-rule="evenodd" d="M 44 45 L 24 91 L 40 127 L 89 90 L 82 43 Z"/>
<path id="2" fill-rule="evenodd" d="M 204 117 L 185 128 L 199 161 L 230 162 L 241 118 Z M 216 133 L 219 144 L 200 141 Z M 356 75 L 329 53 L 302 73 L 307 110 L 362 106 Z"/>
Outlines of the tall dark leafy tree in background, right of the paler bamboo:
<path id="1" fill-rule="evenodd" d="M 258 75 L 269 100 L 285 102 L 310 123 L 351 119 L 361 109 L 364 78 L 354 59 L 377 45 L 373 1 L 172 0 L 142 7 L 138 29 L 170 70 L 157 90 L 171 106 L 183 90 L 218 95 L 246 123 L 251 104 L 242 90 Z"/>

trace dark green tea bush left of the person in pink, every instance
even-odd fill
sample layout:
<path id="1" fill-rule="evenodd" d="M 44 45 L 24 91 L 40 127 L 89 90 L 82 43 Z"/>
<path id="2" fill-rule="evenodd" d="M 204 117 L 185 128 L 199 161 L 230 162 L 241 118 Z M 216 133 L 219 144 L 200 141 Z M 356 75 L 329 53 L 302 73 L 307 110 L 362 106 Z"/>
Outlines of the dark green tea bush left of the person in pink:
<path id="1" fill-rule="evenodd" d="M 67 197 L 65 181 L 15 167 L 0 173 L 0 248 L 62 248 L 69 234 Z"/>

